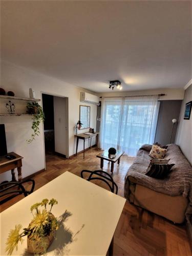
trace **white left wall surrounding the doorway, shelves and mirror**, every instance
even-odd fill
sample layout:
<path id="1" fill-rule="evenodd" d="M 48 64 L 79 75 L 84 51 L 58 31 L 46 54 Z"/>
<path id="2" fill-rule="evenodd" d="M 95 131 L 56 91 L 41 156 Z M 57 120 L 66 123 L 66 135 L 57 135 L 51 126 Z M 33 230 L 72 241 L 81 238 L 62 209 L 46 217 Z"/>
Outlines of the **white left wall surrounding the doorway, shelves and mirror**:
<path id="1" fill-rule="evenodd" d="M 41 92 L 69 98 L 69 155 L 73 155 L 75 153 L 76 146 L 74 126 L 79 120 L 79 93 L 85 90 L 56 78 L 37 73 L 5 61 L 2 61 L 1 75 L 0 87 L 4 88 L 6 92 L 13 91 L 15 96 L 29 97 L 29 88 L 33 88 L 36 93 L 36 98 L 41 98 Z M 14 103 L 16 105 L 19 104 L 16 100 Z M 93 104 L 87 105 L 91 106 L 91 127 L 96 129 L 97 106 Z M 0 113 L 3 113 L 2 106 L 0 108 Z M 31 144 L 27 144 L 26 139 L 29 138 L 32 132 L 30 116 L 1 116 L 0 123 L 5 123 L 8 152 L 14 151 L 24 157 L 23 177 L 45 168 L 42 125 L 40 126 L 39 137 Z M 86 131 L 88 130 L 83 130 L 83 132 Z M 82 131 L 80 131 L 80 133 L 81 132 Z M 88 146 L 89 143 L 87 141 L 86 147 Z M 82 149 L 82 142 L 79 141 L 78 151 Z M 10 179 L 10 172 L 0 175 L 0 182 Z"/>

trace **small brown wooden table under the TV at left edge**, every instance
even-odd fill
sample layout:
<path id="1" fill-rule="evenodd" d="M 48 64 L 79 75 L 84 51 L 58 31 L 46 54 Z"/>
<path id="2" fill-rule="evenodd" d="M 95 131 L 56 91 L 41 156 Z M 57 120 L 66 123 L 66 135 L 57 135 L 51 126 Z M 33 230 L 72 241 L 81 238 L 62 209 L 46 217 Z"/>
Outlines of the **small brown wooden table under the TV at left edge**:
<path id="1" fill-rule="evenodd" d="M 15 178 L 15 168 L 17 168 L 18 172 L 18 181 L 22 181 L 22 159 L 23 157 L 17 155 L 14 152 L 8 153 L 8 155 L 13 155 L 16 158 L 9 160 L 5 156 L 0 157 L 0 174 L 11 170 L 12 181 L 16 181 Z"/>

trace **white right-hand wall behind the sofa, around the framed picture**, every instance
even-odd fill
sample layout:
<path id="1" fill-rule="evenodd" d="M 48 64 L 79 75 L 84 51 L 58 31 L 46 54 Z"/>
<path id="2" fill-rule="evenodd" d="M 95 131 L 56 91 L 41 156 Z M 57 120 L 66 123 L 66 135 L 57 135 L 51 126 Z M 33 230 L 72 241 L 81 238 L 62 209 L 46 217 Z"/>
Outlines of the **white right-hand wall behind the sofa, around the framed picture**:
<path id="1" fill-rule="evenodd" d="M 185 90 L 176 136 L 176 144 L 180 146 L 183 154 L 192 165 L 192 113 L 190 114 L 189 120 L 183 119 L 185 104 L 189 101 L 192 101 L 192 84 Z"/>

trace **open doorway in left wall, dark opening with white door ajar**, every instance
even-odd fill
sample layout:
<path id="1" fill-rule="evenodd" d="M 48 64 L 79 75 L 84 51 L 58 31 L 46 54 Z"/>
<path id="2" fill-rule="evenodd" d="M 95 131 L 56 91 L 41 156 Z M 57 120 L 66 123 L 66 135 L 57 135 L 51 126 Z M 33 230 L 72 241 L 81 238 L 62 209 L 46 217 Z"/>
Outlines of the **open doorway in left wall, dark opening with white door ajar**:
<path id="1" fill-rule="evenodd" d="M 69 158 L 68 98 L 42 93 L 45 156 Z"/>

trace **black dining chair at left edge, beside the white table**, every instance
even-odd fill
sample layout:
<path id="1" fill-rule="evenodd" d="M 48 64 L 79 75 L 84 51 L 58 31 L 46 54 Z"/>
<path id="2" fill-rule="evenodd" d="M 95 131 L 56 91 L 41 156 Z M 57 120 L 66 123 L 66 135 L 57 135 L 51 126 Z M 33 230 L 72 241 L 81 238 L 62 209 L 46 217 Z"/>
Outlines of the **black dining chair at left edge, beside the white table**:
<path id="1" fill-rule="evenodd" d="M 23 186 L 24 183 L 31 183 L 32 185 L 31 189 L 26 190 L 25 187 Z M 24 194 L 24 196 L 27 197 L 29 194 L 33 193 L 34 187 L 35 187 L 35 181 L 32 179 L 28 179 L 22 182 L 17 182 L 17 181 L 2 182 L 0 184 L 0 198 L 1 198 L 0 205 L 18 195 Z"/>

